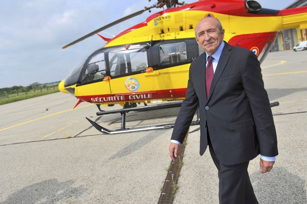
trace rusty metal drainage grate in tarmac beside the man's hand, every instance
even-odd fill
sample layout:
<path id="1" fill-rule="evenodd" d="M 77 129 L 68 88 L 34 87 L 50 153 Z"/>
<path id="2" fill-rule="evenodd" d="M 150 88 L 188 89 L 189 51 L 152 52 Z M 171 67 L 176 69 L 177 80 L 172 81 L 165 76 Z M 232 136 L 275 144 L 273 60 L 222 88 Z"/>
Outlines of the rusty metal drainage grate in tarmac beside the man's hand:
<path id="1" fill-rule="evenodd" d="M 177 183 L 178 183 L 178 178 L 180 176 L 180 169 L 183 164 L 182 159 L 183 159 L 183 153 L 185 149 L 184 144 L 186 144 L 187 137 L 188 136 L 186 135 L 183 144 L 179 145 L 178 147 L 177 160 L 174 162 L 171 161 L 170 163 L 158 204 L 172 204 L 173 203 L 174 196 L 176 195 L 176 191 L 178 189 Z"/>

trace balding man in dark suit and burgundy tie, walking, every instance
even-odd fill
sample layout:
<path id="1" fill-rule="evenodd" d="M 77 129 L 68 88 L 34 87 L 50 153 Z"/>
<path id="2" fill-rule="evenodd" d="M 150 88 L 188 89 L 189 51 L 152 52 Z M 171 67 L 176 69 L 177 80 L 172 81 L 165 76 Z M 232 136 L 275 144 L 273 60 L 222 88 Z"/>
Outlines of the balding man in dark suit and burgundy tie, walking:
<path id="1" fill-rule="evenodd" d="M 177 158 L 199 106 L 200 155 L 209 145 L 218 170 L 220 204 L 254 204 L 258 201 L 248 164 L 260 154 L 261 173 L 271 171 L 278 155 L 276 131 L 257 57 L 223 41 L 224 32 L 216 18 L 203 18 L 196 25 L 196 41 L 205 53 L 190 66 L 169 154 Z"/>

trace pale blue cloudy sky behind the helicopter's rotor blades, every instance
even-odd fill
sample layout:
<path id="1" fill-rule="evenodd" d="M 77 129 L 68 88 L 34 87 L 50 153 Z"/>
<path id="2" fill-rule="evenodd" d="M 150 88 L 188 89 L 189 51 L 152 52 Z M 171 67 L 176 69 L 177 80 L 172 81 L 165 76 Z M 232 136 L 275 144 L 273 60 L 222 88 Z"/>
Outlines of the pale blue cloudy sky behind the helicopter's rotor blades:
<path id="1" fill-rule="evenodd" d="M 262 8 L 279 10 L 295 1 L 258 2 Z M 105 42 L 94 35 L 66 49 L 62 46 L 153 3 L 155 0 L 1 0 L 0 88 L 67 78 Z M 112 38 L 160 10 L 146 11 L 100 34 Z"/>

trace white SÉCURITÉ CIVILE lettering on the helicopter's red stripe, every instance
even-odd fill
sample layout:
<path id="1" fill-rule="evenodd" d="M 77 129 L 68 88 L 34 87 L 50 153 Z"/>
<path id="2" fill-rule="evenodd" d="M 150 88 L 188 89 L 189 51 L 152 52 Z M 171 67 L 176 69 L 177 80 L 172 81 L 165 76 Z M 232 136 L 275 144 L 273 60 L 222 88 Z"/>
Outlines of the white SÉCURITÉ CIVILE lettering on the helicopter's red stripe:
<path id="1" fill-rule="evenodd" d="M 141 100 L 141 99 L 150 99 L 150 98 L 152 98 L 152 93 L 95 97 L 91 98 L 91 101 L 93 103 L 97 103 L 97 102 L 110 102 L 110 101 Z"/>

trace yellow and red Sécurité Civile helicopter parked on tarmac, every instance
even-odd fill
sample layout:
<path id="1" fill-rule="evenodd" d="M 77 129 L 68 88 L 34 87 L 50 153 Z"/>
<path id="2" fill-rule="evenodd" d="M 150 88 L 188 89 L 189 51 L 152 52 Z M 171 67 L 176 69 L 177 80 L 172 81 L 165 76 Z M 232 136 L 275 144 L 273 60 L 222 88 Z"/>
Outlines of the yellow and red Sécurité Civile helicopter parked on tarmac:
<path id="1" fill-rule="evenodd" d="M 99 34 L 152 8 L 163 10 L 149 15 L 145 21 L 113 38 Z M 104 25 L 63 46 L 67 48 L 95 34 L 106 41 L 104 47 L 96 50 L 67 79 L 60 82 L 59 90 L 78 98 L 76 106 L 83 101 L 96 104 L 98 116 L 120 113 L 122 122 L 118 130 L 108 130 L 86 117 L 102 133 L 172 127 L 173 124 L 163 124 L 128 129 L 125 116 L 129 111 L 181 106 L 187 89 L 190 63 L 204 52 L 196 43 L 194 34 L 196 24 L 204 17 L 218 18 L 225 29 L 224 40 L 231 45 L 252 50 L 261 63 L 270 52 L 278 31 L 298 28 L 307 23 L 307 7 L 272 10 L 262 8 L 253 0 L 199 0 L 190 4 L 178 0 L 158 0 L 150 7 Z M 138 106 L 141 103 L 144 106 Z M 101 109 L 101 105 L 108 107 L 115 104 L 121 105 L 123 109 Z M 272 106 L 278 106 L 278 102 Z M 192 124 L 199 124 L 199 117 Z"/>

